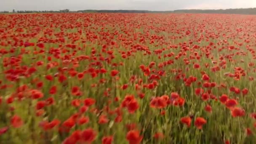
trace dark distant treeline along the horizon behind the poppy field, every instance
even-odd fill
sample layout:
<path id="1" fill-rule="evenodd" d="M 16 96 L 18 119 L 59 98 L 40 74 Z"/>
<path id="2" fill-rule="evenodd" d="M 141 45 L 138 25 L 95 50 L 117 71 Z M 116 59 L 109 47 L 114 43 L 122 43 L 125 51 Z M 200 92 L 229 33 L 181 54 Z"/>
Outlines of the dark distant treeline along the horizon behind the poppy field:
<path id="1" fill-rule="evenodd" d="M 256 8 L 236 8 L 236 9 L 219 9 L 219 10 L 175 10 L 175 11 L 140 11 L 140 10 L 83 10 L 69 11 L 69 9 L 60 11 L 13 11 L 13 13 L 227 13 L 227 14 L 256 14 Z M 10 13 L 2 11 L 0 13 Z"/>

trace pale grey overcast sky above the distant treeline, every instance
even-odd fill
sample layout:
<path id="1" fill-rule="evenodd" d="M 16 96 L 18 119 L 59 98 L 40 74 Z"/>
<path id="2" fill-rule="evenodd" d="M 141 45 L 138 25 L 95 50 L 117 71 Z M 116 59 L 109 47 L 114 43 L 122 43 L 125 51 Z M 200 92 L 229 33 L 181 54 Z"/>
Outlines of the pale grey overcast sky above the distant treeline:
<path id="1" fill-rule="evenodd" d="M 0 11 L 152 10 L 253 8 L 256 0 L 0 0 Z"/>

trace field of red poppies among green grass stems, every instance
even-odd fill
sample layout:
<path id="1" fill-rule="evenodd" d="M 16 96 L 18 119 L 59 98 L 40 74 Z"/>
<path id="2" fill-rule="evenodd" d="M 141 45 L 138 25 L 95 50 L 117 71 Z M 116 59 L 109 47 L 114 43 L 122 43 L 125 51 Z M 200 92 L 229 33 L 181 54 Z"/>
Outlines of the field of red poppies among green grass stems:
<path id="1" fill-rule="evenodd" d="M 256 16 L 0 15 L 1 144 L 254 144 Z"/>

